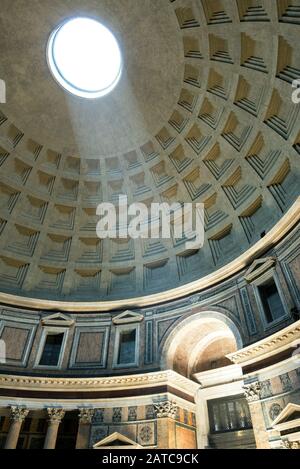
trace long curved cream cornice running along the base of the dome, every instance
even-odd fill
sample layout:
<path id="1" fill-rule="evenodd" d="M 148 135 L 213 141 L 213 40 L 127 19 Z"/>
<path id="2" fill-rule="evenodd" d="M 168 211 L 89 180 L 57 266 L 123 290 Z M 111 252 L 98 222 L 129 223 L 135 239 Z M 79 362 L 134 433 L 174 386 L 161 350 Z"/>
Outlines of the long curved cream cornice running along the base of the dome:
<path id="1" fill-rule="evenodd" d="M 275 227 L 267 233 L 267 235 L 252 246 L 248 251 L 243 253 L 233 262 L 207 275 L 199 280 L 188 283 L 186 285 L 167 290 L 165 292 L 156 293 L 138 298 L 129 298 L 117 301 L 100 301 L 100 302 L 64 302 L 50 301 L 35 298 L 25 298 L 17 295 L 0 293 L 0 303 L 19 306 L 24 308 L 33 308 L 38 310 L 60 310 L 68 312 L 107 312 L 113 310 L 122 310 L 128 308 L 138 308 L 161 304 L 167 301 L 174 301 L 184 296 L 191 295 L 206 288 L 210 288 L 217 283 L 223 282 L 234 274 L 245 269 L 254 259 L 261 256 L 264 252 L 271 249 L 285 235 L 287 235 L 299 222 L 300 219 L 300 197 L 296 200 L 289 211 L 275 225 Z"/>

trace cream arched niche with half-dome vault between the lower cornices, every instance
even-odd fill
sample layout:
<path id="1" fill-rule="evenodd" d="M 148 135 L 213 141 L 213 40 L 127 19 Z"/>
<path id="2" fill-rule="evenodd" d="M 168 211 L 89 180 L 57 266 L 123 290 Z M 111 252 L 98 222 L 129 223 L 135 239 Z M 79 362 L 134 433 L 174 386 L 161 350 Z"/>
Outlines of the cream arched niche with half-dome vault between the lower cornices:
<path id="1" fill-rule="evenodd" d="M 242 348 L 237 326 L 225 314 L 205 311 L 178 322 L 162 349 L 161 366 L 192 378 L 232 365 L 226 355 Z"/>

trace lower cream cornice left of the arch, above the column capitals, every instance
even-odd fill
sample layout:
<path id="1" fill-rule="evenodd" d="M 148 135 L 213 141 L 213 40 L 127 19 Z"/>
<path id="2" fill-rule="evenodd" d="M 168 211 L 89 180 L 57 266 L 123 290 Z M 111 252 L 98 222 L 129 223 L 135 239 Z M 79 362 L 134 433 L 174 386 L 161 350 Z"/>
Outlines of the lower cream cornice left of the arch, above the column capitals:
<path id="1" fill-rule="evenodd" d="M 158 385 L 172 386 L 192 397 L 199 388 L 198 384 L 172 370 L 108 378 L 43 378 L 38 376 L 0 375 L 0 395 L 1 388 L 40 392 L 95 392 L 134 390 Z"/>

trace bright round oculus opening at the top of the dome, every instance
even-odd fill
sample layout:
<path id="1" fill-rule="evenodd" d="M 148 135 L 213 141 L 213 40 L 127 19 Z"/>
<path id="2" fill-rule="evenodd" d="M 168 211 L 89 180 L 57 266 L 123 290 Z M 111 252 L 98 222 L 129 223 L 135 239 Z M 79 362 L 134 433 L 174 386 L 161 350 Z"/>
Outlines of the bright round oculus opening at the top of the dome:
<path id="1" fill-rule="evenodd" d="M 115 36 L 91 18 L 73 18 L 50 36 L 50 70 L 70 93 L 95 99 L 110 93 L 122 73 L 122 56 Z"/>

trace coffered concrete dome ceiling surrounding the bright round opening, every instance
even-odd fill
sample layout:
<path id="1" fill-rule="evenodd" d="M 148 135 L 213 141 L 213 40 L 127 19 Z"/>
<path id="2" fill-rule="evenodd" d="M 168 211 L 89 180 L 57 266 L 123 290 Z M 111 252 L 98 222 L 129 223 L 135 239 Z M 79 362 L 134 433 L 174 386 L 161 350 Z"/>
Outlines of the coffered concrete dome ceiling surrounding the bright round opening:
<path id="1" fill-rule="evenodd" d="M 290 1 L 1 1 L 0 290 L 105 301 L 188 284 L 245 253 L 299 195 L 299 14 Z M 296 7 L 295 7 L 296 8 Z M 85 100 L 53 79 L 63 21 L 115 35 L 122 76 Z M 203 202 L 205 243 L 100 240 L 97 205 Z"/>

